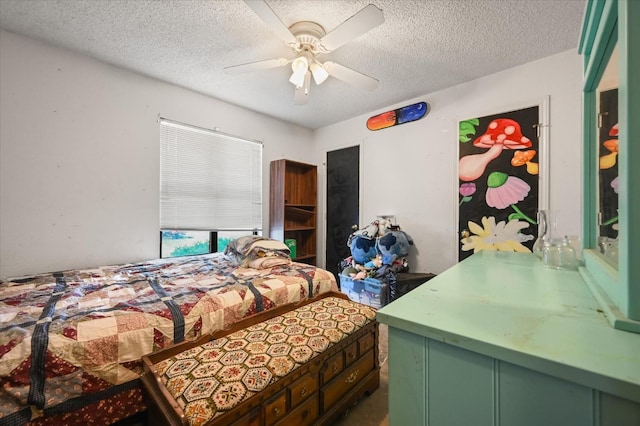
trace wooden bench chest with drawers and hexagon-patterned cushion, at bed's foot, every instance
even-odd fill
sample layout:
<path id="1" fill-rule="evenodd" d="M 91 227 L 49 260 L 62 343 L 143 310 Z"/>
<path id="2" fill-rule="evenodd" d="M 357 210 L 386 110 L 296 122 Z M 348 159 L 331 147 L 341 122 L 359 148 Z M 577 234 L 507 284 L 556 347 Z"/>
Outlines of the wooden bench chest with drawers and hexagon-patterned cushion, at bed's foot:
<path id="1" fill-rule="evenodd" d="M 380 384 L 375 310 L 341 293 L 142 360 L 154 426 L 331 424 Z"/>

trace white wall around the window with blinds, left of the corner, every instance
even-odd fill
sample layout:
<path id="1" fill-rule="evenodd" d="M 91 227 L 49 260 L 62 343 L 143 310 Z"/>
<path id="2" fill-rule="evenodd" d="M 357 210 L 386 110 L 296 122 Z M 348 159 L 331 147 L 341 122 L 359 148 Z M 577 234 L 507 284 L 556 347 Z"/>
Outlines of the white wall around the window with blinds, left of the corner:
<path id="1" fill-rule="evenodd" d="M 0 94 L 0 277 L 158 257 L 158 115 L 263 140 L 265 199 L 271 160 L 314 160 L 308 129 L 6 31 Z"/>

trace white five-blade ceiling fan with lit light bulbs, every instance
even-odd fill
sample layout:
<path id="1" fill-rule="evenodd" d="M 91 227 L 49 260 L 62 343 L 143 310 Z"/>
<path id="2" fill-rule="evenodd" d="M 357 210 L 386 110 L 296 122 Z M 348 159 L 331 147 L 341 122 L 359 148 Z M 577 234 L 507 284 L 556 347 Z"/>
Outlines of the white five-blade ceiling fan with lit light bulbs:
<path id="1" fill-rule="evenodd" d="M 291 47 L 295 57 L 292 59 L 277 58 L 264 61 L 226 67 L 228 74 L 241 74 L 291 64 L 293 73 L 289 81 L 295 86 L 296 105 L 306 104 L 309 100 L 311 77 L 317 85 L 322 84 L 329 76 L 335 77 L 364 90 L 373 90 L 378 80 L 361 72 L 332 61 L 320 62 L 318 55 L 332 52 L 367 31 L 384 22 L 382 10 L 370 4 L 355 15 L 327 33 L 315 22 L 300 21 L 287 27 L 271 10 L 264 0 L 244 0 L 245 3 L 262 19 L 287 46 Z"/>

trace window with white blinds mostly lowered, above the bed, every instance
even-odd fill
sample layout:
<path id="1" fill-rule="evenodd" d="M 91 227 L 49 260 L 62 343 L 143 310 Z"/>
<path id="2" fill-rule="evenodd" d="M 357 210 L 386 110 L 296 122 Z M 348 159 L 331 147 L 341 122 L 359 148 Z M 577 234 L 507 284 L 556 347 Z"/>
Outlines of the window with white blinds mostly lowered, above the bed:
<path id="1" fill-rule="evenodd" d="M 262 233 L 262 144 L 160 120 L 160 256 Z"/>

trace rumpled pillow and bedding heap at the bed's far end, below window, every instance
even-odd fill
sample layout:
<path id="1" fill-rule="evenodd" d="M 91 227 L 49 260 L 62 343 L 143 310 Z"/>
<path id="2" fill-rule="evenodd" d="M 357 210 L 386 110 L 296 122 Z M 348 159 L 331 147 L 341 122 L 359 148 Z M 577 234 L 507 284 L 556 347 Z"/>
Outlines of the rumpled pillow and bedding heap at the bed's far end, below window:
<path id="1" fill-rule="evenodd" d="M 266 269 L 291 263 L 291 252 L 286 244 L 259 235 L 231 241 L 224 253 L 244 268 Z"/>

